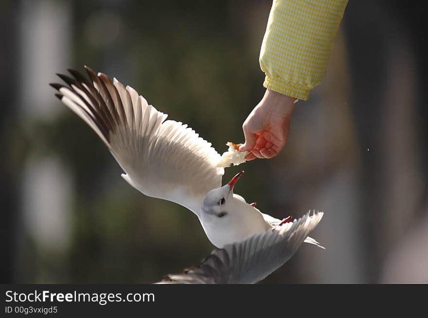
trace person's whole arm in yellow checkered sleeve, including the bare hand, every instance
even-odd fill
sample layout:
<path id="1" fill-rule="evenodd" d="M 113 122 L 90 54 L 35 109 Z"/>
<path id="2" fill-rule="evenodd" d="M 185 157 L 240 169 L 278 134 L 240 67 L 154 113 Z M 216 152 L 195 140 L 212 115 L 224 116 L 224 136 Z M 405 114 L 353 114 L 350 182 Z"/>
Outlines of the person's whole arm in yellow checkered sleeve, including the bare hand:
<path id="1" fill-rule="evenodd" d="M 259 59 L 267 91 L 243 125 L 246 141 L 240 151 L 253 153 L 247 159 L 271 158 L 284 147 L 294 101 L 307 100 L 310 90 L 320 84 L 346 4 L 347 0 L 274 0 Z M 264 121 L 260 121 L 261 117 Z M 266 122 L 275 125 L 265 127 Z M 260 131 L 254 131 L 255 127 Z M 274 151 L 258 148 L 270 145 L 266 139 L 270 135 L 276 137 Z"/>

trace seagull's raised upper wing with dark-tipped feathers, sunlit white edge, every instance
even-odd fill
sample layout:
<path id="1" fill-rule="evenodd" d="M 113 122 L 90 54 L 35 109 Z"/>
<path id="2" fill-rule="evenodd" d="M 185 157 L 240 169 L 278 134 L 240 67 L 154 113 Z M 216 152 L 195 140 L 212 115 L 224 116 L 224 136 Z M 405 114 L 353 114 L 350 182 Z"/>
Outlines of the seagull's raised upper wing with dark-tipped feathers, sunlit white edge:
<path id="1" fill-rule="evenodd" d="M 187 125 L 165 120 L 167 115 L 133 88 L 85 68 L 90 80 L 73 69 L 72 77 L 58 74 L 68 86 L 51 84 L 59 91 L 56 96 L 103 140 L 129 184 L 199 216 L 200 202 L 221 186 L 224 174 L 211 143 Z"/>

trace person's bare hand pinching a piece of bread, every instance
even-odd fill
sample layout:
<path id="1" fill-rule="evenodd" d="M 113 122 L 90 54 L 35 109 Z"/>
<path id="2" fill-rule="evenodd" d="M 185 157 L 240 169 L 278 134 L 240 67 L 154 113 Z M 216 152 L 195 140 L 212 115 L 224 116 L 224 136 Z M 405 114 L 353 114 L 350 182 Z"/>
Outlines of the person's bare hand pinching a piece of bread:
<path id="1" fill-rule="evenodd" d="M 266 90 L 265 96 L 248 115 L 242 130 L 245 143 L 239 151 L 251 151 L 245 159 L 275 157 L 284 147 L 296 99 Z"/>

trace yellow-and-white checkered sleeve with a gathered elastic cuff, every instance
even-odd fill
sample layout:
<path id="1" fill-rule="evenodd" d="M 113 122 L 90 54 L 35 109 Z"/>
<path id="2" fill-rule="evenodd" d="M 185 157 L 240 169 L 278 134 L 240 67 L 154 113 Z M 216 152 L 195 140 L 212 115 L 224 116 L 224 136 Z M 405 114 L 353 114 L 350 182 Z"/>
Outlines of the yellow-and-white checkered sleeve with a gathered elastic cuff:
<path id="1" fill-rule="evenodd" d="M 347 0 L 274 0 L 260 50 L 263 86 L 307 100 L 321 83 Z"/>

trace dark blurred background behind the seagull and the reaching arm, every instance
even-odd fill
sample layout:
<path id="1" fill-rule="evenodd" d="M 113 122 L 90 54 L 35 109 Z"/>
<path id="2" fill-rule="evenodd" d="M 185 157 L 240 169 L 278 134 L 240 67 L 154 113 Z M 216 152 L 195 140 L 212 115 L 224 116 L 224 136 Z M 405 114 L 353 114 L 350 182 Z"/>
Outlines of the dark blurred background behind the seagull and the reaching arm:
<path id="1" fill-rule="evenodd" d="M 145 197 L 48 85 L 88 65 L 188 123 L 218 152 L 262 98 L 271 1 L 0 2 L 0 283 L 153 283 L 213 246 Z M 277 218 L 325 211 L 262 283 L 428 283 L 426 10 L 350 1 L 327 75 L 289 141 L 236 192 Z M 225 180 L 241 167 L 226 170 Z"/>

